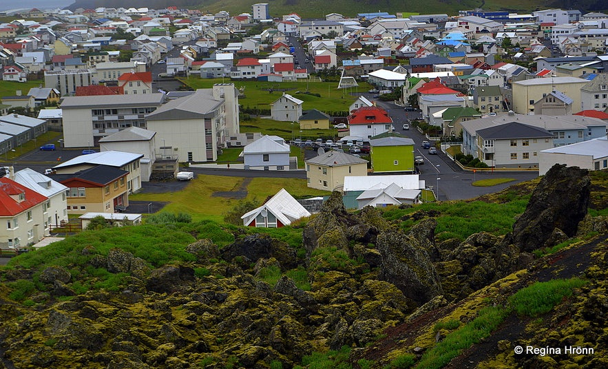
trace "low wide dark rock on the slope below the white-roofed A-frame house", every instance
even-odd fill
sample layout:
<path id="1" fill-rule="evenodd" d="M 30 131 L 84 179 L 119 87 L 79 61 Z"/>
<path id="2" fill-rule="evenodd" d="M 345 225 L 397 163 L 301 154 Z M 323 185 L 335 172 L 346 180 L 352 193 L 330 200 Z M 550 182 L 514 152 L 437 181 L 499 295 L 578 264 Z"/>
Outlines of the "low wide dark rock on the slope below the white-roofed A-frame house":
<path id="1" fill-rule="evenodd" d="M 221 253 L 222 258 L 227 261 L 231 261 L 237 256 L 247 257 L 253 262 L 257 262 L 260 258 L 274 257 L 282 268 L 291 269 L 297 266 L 295 249 L 286 242 L 274 240 L 263 233 L 247 235 L 224 247 Z"/>

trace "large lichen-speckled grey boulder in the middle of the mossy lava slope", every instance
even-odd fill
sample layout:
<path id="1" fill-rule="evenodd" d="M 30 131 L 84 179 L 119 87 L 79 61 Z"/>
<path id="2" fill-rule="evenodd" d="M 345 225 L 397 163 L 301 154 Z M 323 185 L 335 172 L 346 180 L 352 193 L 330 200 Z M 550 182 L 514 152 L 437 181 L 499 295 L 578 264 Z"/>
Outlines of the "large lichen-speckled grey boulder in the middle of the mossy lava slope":
<path id="1" fill-rule="evenodd" d="M 403 295 L 424 304 L 443 293 L 426 249 L 414 238 L 385 232 L 378 236 L 377 247 L 382 255 L 381 279 L 395 284 Z"/>

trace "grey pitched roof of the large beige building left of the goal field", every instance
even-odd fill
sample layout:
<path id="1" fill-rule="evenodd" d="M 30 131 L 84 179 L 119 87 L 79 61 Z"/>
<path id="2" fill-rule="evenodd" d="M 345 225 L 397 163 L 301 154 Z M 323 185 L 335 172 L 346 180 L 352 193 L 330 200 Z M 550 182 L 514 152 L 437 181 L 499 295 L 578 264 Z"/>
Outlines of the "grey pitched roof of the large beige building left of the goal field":
<path id="1" fill-rule="evenodd" d="M 196 119 L 209 117 L 223 101 L 213 98 L 213 89 L 197 89 L 189 96 L 176 98 L 146 116 L 147 120 Z"/>

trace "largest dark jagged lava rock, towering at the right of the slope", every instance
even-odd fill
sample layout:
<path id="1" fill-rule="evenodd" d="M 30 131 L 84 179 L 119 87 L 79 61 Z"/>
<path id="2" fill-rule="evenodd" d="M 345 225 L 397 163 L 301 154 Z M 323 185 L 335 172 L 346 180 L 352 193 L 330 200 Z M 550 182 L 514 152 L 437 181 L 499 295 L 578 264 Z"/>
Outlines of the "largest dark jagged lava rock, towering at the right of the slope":
<path id="1" fill-rule="evenodd" d="M 530 198 L 525 212 L 505 236 L 504 244 L 521 251 L 534 251 L 547 244 L 554 229 L 568 237 L 576 235 L 578 222 L 585 218 L 591 180 L 587 169 L 554 165 L 543 177 Z"/>

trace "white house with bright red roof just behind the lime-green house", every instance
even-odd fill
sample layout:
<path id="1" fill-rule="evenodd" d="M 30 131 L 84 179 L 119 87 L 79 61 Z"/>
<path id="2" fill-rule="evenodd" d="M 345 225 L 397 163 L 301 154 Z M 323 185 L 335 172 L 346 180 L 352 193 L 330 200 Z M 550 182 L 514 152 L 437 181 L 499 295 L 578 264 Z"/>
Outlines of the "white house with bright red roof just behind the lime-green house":
<path id="1" fill-rule="evenodd" d="M 377 106 L 359 107 L 348 116 L 351 136 L 371 138 L 392 131 L 392 119 L 386 110 Z"/>

